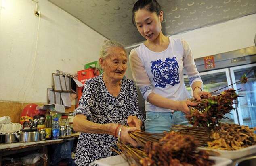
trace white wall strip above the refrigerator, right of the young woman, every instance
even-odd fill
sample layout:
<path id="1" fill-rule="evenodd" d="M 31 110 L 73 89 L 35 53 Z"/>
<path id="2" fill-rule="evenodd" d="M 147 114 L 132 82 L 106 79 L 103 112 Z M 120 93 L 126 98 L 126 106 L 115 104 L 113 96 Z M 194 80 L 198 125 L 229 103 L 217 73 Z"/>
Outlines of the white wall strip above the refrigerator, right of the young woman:
<path id="1" fill-rule="evenodd" d="M 256 14 L 253 14 L 172 37 L 187 40 L 196 59 L 254 46 L 255 33 Z"/>

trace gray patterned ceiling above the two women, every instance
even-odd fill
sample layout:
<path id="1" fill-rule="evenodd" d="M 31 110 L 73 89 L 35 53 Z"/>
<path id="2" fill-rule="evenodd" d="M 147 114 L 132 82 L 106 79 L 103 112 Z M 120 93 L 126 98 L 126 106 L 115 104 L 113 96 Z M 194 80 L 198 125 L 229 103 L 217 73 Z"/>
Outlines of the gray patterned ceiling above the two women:
<path id="1" fill-rule="evenodd" d="M 132 24 L 136 0 L 49 0 L 108 39 L 125 46 L 144 41 Z M 157 0 L 162 31 L 174 35 L 256 13 L 256 0 Z"/>

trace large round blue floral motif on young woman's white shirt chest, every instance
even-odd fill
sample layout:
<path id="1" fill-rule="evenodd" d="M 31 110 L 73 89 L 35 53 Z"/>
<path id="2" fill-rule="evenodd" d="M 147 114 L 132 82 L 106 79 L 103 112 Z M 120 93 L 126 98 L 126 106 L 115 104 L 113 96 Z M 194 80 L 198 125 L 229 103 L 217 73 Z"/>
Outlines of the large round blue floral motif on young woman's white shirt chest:
<path id="1" fill-rule="evenodd" d="M 178 73 L 178 62 L 176 57 L 162 60 L 151 61 L 151 72 L 154 75 L 153 80 L 156 82 L 155 87 L 165 88 L 166 84 L 174 86 L 180 83 Z"/>

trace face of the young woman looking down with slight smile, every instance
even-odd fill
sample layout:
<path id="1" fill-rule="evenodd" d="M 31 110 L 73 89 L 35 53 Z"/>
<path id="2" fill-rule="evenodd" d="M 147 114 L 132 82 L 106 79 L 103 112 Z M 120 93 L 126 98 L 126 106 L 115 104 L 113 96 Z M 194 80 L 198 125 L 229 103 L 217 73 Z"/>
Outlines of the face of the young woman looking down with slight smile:
<path id="1" fill-rule="evenodd" d="M 161 32 L 163 12 L 159 16 L 155 12 L 151 13 L 146 9 L 139 9 L 135 12 L 135 23 L 139 33 L 147 40 L 155 40 Z"/>

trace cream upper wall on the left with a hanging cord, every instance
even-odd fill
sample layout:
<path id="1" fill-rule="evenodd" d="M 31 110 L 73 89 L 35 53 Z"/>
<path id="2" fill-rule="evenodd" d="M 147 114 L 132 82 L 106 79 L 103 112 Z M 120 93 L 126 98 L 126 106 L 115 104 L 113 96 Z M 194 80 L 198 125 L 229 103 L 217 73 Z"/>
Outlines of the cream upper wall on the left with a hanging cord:
<path id="1" fill-rule="evenodd" d="M 53 72 L 75 74 L 99 58 L 105 37 L 47 0 L 38 5 L 33 65 L 39 22 L 35 2 L 0 0 L 0 100 L 45 103 Z"/>

